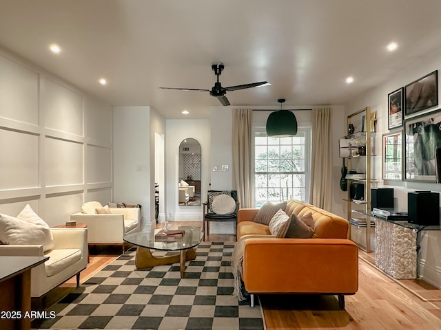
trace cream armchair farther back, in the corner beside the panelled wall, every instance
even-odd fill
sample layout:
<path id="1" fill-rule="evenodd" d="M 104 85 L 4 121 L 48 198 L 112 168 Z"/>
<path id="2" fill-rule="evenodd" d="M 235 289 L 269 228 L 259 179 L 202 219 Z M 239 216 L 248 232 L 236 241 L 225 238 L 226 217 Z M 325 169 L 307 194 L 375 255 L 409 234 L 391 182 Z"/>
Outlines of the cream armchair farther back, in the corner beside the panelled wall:
<path id="1" fill-rule="evenodd" d="M 85 207 L 85 204 L 92 205 L 92 208 Z M 82 207 L 83 212 L 71 214 L 70 220 L 76 221 L 76 223 L 85 223 L 88 226 L 88 243 L 121 244 L 124 253 L 123 236 L 138 231 L 139 208 L 109 208 L 108 206 L 101 206 L 98 202 L 85 204 Z M 96 206 L 96 208 L 93 206 Z M 91 213 L 92 210 L 101 212 L 101 209 L 105 213 Z"/>

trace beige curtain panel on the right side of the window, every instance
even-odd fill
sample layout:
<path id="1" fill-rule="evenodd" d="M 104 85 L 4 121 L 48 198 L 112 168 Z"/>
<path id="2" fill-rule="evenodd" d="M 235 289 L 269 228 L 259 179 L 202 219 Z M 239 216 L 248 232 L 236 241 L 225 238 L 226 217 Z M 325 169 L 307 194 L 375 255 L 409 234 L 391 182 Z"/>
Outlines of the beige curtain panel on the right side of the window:
<path id="1" fill-rule="evenodd" d="M 311 190 L 309 203 L 331 210 L 331 108 L 312 109 Z"/>

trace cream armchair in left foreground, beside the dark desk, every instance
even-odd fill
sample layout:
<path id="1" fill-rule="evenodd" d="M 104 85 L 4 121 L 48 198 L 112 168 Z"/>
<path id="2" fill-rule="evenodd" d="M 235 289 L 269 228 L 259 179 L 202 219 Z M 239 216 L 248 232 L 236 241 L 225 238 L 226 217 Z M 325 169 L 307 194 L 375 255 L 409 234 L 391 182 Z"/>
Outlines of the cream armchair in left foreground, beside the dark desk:
<path id="1" fill-rule="evenodd" d="M 50 228 L 54 246 L 43 252 L 43 245 L 0 245 L 1 256 L 48 256 L 48 261 L 31 270 L 31 296 L 41 297 L 76 276 L 88 265 L 88 230 Z"/>

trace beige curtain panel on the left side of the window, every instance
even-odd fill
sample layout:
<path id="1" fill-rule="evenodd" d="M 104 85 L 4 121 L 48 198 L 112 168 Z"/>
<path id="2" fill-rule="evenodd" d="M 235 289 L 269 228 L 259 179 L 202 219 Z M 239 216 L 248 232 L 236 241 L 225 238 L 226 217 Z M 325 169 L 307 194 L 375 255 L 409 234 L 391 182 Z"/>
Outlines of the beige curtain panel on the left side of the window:
<path id="1" fill-rule="evenodd" d="M 234 185 L 240 208 L 252 208 L 253 110 L 233 109 Z"/>

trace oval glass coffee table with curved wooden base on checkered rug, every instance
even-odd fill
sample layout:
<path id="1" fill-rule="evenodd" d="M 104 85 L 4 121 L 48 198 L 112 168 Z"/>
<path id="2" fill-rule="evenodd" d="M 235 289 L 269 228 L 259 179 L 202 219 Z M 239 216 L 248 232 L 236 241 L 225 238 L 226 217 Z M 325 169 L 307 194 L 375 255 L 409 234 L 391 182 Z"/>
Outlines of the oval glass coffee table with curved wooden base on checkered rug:
<path id="1" fill-rule="evenodd" d="M 194 248 L 196 248 L 203 239 L 202 228 L 194 226 L 170 228 L 170 230 L 184 231 L 182 238 L 176 241 L 156 241 L 154 235 L 159 230 L 160 229 L 147 232 L 135 232 L 123 237 L 125 242 L 138 247 L 135 255 L 136 268 L 142 270 L 147 267 L 180 263 L 181 278 L 184 278 L 185 261 L 196 259 L 196 251 Z M 176 251 L 179 252 L 179 254 L 156 257 L 152 255 L 150 250 Z"/>

